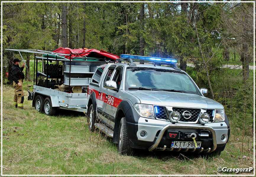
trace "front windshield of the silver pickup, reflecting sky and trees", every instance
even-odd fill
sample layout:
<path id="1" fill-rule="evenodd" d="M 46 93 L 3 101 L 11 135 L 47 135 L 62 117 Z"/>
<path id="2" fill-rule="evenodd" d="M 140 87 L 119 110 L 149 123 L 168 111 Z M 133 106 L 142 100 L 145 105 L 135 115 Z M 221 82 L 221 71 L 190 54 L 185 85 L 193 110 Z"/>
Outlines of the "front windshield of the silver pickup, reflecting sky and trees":
<path id="1" fill-rule="evenodd" d="M 186 73 L 163 68 L 128 67 L 125 90 L 158 90 L 201 95 Z"/>

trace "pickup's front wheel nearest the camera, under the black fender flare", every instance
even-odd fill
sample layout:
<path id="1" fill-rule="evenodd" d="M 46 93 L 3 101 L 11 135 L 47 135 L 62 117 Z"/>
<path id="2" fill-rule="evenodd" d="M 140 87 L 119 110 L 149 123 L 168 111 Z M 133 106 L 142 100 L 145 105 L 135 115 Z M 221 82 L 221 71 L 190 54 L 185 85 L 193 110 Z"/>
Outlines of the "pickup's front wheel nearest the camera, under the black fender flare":
<path id="1" fill-rule="evenodd" d="M 133 149 L 130 146 L 129 138 L 127 136 L 125 117 L 121 119 L 119 124 L 118 152 L 123 155 L 131 155 L 133 153 Z"/>

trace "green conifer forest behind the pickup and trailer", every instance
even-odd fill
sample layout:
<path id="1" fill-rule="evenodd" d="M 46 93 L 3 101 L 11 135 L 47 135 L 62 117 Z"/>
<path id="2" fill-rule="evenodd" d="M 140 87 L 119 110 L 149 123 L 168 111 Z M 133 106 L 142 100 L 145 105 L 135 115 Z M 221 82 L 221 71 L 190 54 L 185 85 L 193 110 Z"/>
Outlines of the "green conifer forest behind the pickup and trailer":
<path id="1" fill-rule="evenodd" d="M 175 58 L 221 103 L 233 133 L 254 133 L 254 2 L 4 2 L 2 78 L 18 53 L 4 49 L 95 48 Z M 24 57 L 25 56 L 25 57 Z M 23 54 L 27 66 L 34 56 Z M 188 67 L 192 63 L 195 67 Z M 241 69 L 223 65 L 242 65 Z M 27 81 L 33 68 L 25 69 Z M 245 144 L 244 144 L 245 145 Z M 239 145 L 240 154 L 245 147 Z M 248 150 L 249 148 L 247 148 Z"/>

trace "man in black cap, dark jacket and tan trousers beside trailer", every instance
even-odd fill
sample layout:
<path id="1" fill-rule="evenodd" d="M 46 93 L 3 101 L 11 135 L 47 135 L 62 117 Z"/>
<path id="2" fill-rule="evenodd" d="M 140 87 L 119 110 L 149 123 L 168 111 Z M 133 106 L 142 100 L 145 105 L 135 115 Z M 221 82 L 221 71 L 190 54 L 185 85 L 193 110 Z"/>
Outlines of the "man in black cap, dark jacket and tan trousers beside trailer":
<path id="1" fill-rule="evenodd" d="M 24 73 L 22 73 L 25 63 L 23 63 L 22 67 L 20 68 L 20 62 L 18 58 L 13 60 L 13 65 L 10 69 L 11 77 L 13 80 L 14 86 L 14 97 L 13 97 L 13 104 L 16 108 L 23 109 L 23 102 L 24 102 L 24 93 L 23 93 L 23 79 L 25 79 Z"/>

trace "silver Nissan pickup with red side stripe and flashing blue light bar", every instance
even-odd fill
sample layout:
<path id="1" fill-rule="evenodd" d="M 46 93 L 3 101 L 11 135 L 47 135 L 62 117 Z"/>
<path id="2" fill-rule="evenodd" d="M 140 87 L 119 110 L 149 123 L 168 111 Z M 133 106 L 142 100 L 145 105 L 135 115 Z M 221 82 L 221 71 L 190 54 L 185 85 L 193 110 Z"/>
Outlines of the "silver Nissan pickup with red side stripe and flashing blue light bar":
<path id="1" fill-rule="evenodd" d="M 230 129 L 223 106 L 206 98 L 207 89 L 199 89 L 175 60 L 121 55 L 116 61 L 99 66 L 90 81 L 90 131 L 104 131 L 121 154 L 224 150 Z"/>

